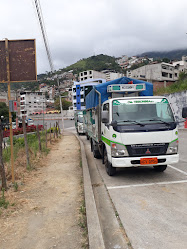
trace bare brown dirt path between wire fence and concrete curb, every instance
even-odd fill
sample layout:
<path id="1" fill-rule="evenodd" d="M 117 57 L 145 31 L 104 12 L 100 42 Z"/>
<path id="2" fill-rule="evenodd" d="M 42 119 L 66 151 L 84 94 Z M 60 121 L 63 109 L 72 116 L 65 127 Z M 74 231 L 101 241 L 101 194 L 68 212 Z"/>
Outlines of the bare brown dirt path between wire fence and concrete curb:
<path id="1" fill-rule="evenodd" d="M 24 202 L 21 209 L 0 217 L 0 249 L 81 248 L 82 169 L 77 139 L 63 136 L 43 164 L 35 178 L 15 192 Z"/>

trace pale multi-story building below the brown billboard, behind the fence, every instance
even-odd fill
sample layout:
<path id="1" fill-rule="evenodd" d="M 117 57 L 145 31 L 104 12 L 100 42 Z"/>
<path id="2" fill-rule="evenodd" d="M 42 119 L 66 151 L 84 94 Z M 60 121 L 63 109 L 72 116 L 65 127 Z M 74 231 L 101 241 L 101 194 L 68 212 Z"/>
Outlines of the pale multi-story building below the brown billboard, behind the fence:
<path id="1" fill-rule="evenodd" d="M 42 92 L 20 92 L 20 118 L 33 113 L 44 113 L 46 111 L 45 94 Z"/>

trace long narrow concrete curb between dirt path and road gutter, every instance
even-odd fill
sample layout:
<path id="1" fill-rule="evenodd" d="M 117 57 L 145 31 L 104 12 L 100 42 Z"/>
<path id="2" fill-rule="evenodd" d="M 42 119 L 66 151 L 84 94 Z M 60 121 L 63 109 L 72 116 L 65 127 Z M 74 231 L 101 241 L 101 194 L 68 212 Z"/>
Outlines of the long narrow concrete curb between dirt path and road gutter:
<path id="1" fill-rule="evenodd" d="M 92 189 L 91 178 L 90 178 L 90 173 L 88 169 L 88 163 L 86 159 L 84 144 L 76 134 L 75 136 L 78 139 L 80 143 L 80 147 L 81 147 L 89 248 L 90 249 L 104 249 L 105 245 L 104 245 L 101 226 L 100 226 L 99 217 L 97 213 L 94 193 Z"/>

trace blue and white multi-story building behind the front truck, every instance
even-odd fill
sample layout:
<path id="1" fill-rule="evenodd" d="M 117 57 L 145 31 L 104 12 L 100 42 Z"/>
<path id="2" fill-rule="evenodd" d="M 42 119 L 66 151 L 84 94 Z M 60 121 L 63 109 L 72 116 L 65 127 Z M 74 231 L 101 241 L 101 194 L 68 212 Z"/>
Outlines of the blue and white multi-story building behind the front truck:
<path id="1" fill-rule="evenodd" d="M 106 82 L 105 79 L 88 79 L 85 81 L 74 82 L 72 86 L 73 110 L 84 110 L 85 97 L 94 86 Z"/>

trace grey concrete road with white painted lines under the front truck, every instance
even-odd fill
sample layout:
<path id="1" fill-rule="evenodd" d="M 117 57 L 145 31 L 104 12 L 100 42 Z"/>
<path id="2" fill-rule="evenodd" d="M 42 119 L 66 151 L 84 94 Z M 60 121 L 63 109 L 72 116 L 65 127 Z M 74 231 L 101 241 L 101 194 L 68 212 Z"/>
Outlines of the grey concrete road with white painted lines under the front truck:
<path id="1" fill-rule="evenodd" d="M 180 162 L 162 173 L 150 167 L 120 169 L 109 177 L 95 159 L 135 249 L 187 248 L 187 131 L 180 131 L 179 138 Z"/>

